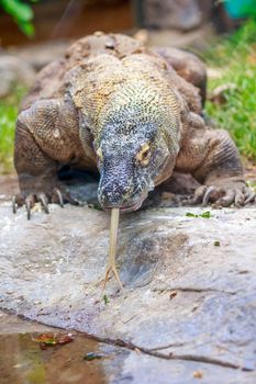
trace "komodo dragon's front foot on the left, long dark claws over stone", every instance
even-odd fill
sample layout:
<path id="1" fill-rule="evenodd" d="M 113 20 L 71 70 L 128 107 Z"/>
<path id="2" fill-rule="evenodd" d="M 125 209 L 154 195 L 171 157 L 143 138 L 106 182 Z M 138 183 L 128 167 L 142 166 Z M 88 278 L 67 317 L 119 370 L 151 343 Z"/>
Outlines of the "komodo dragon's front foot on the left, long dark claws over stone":
<path id="1" fill-rule="evenodd" d="M 49 213 L 48 204 L 55 203 L 64 207 L 64 203 L 70 203 L 78 205 L 78 202 L 70 197 L 66 192 L 62 192 L 59 189 L 54 188 L 52 193 L 36 192 L 36 193 L 18 193 L 12 197 L 12 212 L 16 213 L 16 208 L 25 205 L 26 217 L 31 218 L 31 211 L 35 203 L 41 203 L 44 212 Z"/>

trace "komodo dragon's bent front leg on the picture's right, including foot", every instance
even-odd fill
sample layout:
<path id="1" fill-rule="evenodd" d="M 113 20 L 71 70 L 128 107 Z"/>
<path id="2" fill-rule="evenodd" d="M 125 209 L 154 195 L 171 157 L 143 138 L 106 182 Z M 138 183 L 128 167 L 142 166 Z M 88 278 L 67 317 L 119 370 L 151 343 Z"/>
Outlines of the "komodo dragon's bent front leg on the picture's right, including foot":
<path id="1" fill-rule="evenodd" d="M 246 187 L 238 150 L 225 131 L 205 126 L 188 131 L 176 169 L 202 184 L 194 192 L 194 203 L 242 206 L 255 199 Z"/>

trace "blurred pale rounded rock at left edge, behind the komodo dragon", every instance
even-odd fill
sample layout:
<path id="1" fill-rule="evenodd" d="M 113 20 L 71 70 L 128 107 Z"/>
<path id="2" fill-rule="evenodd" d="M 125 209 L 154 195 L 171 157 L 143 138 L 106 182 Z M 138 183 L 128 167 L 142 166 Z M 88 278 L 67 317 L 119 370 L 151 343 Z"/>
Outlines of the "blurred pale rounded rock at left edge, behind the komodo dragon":
<path id="1" fill-rule="evenodd" d="M 0 99 L 7 98 L 16 84 L 29 88 L 35 79 L 35 71 L 24 60 L 0 55 Z"/>

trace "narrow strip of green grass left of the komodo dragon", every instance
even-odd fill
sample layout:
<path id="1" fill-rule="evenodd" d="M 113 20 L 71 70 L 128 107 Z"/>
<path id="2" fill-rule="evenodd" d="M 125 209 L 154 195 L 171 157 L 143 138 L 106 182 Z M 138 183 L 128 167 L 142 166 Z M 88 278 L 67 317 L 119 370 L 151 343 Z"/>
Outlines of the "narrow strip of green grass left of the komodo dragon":
<path id="1" fill-rule="evenodd" d="M 16 88 L 13 94 L 0 100 L 0 171 L 13 170 L 13 144 L 19 103 L 25 91 Z"/>

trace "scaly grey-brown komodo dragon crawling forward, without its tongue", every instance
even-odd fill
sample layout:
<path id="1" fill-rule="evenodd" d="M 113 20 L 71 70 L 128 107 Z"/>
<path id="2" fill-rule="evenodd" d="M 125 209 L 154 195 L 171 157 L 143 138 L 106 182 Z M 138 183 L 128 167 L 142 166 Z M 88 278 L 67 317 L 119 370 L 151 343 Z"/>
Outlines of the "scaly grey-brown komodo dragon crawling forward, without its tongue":
<path id="1" fill-rule="evenodd" d="M 202 117 L 205 68 L 193 55 L 148 49 L 121 34 L 85 37 L 46 66 L 18 116 L 14 163 L 27 217 L 35 202 L 63 205 L 63 165 L 100 172 L 104 210 L 137 210 L 174 170 L 201 185 L 194 202 L 236 206 L 254 200 L 238 151 Z"/>

